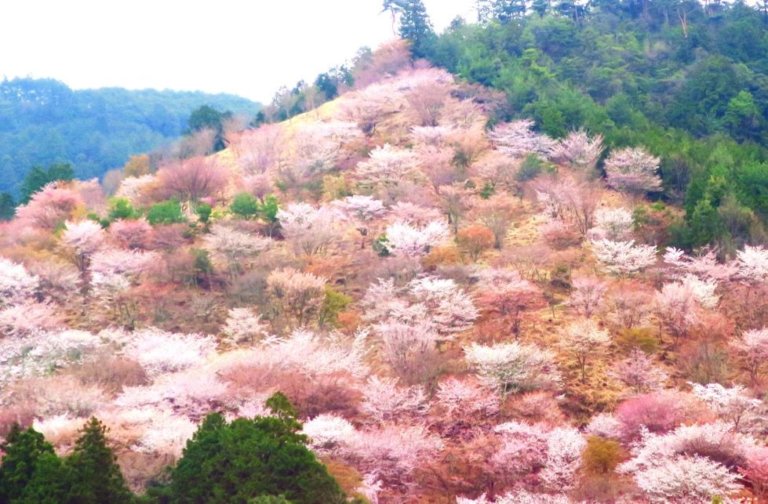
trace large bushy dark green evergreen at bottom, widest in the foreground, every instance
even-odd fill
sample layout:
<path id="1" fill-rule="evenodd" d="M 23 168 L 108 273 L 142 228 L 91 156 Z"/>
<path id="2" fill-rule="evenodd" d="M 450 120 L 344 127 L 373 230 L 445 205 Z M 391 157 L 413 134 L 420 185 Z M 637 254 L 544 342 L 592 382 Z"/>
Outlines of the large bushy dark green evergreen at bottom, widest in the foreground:
<path id="1" fill-rule="evenodd" d="M 278 416 L 227 423 L 218 413 L 208 415 L 171 471 L 168 502 L 345 502 L 297 433 L 301 424 L 285 396 L 276 394 L 267 404 Z"/>

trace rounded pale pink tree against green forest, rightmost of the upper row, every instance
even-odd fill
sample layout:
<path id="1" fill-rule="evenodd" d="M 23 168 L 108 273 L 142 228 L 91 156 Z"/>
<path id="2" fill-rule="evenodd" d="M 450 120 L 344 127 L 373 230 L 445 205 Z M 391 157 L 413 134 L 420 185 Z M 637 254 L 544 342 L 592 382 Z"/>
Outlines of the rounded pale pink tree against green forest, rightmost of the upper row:
<path id="1" fill-rule="evenodd" d="M 606 183 L 613 189 L 634 194 L 661 191 L 660 162 L 642 147 L 613 151 L 605 160 Z"/>

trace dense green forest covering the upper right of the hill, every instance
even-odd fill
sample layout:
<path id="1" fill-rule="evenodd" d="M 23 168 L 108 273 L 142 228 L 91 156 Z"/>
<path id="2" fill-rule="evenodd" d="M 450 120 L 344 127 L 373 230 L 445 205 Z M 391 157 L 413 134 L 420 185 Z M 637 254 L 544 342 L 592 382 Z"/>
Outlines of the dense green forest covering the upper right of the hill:
<path id="1" fill-rule="evenodd" d="M 768 38 L 758 9 L 690 2 L 683 33 L 665 2 L 541 1 L 527 16 L 515 4 L 480 1 L 481 18 L 498 22 L 455 23 L 427 57 L 504 91 L 548 135 L 584 128 L 609 149 L 660 156 L 661 198 L 684 202 L 686 218 L 655 237 L 689 249 L 765 243 Z"/>

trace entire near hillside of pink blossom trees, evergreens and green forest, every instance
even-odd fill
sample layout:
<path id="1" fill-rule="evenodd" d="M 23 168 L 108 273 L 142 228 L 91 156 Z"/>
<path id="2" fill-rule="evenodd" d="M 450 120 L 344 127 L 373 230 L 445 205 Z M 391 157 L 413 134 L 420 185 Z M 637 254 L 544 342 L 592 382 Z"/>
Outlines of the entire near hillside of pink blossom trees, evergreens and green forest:
<path id="1" fill-rule="evenodd" d="M 643 63 L 677 30 L 764 40 L 763 13 L 565 3 L 483 3 L 438 37 L 418 0 L 385 2 L 404 40 L 281 92 L 218 152 L 31 194 L 0 223 L 0 502 L 768 499 L 762 111 L 754 138 L 728 105 L 676 123 L 656 99 L 707 49 L 666 53 L 666 93 Z M 536 48 L 611 20 L 638 67 L 613 94 L 571 46 Z M 729 60 L 754 80 L 728 102 L 751 82 L 764 110 L 763 56 Z"/>

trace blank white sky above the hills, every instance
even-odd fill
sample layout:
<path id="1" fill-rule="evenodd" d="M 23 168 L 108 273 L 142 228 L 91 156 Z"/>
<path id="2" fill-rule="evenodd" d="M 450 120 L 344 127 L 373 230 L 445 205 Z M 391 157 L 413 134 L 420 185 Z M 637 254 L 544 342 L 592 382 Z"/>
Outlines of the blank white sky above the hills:
<path id="1" fill-rule="evenodd" d="M 435 28 L 474 0 L 424 0 Z M 3 0 L 0 77 L 73 88 L 228 92 L 268 102 L 392 38 L 381 0 Z"/>

